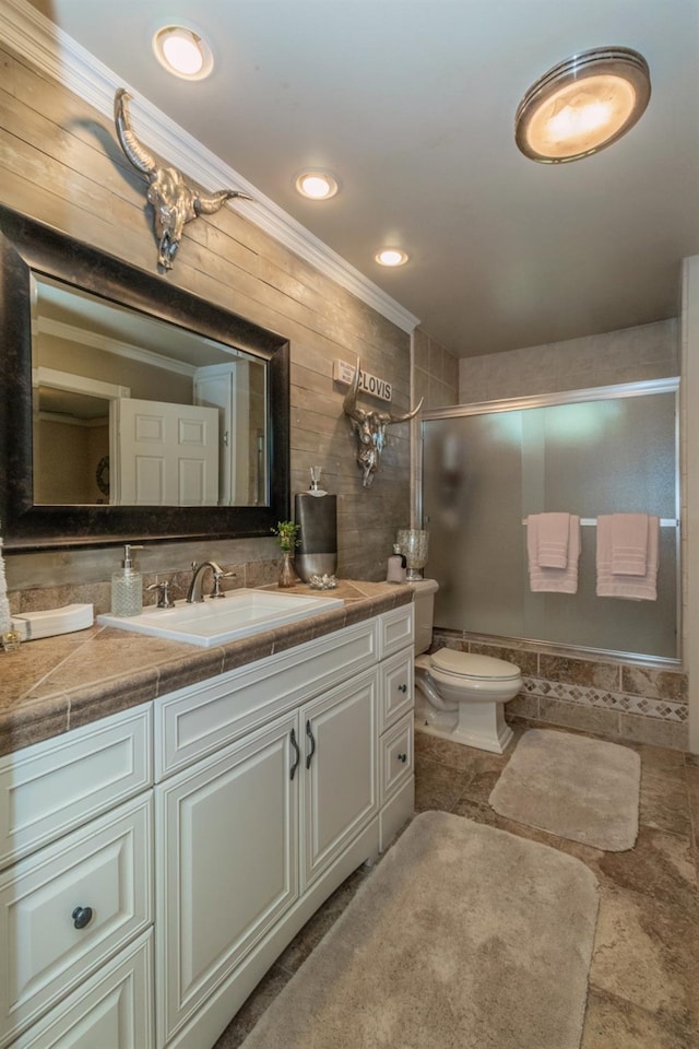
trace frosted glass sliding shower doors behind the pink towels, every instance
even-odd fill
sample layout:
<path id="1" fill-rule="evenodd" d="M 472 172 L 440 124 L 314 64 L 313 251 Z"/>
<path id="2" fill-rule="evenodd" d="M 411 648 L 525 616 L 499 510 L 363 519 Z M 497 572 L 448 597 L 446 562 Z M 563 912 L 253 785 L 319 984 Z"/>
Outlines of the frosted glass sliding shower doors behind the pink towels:
<path id="1" fill-rule="evenodd" d="M 678 658 L 677 379 L 428 412 L 422 423 L 426 576 L 435 625 L 571 649 Z M 525 519 L 581 518 L 578 592 L 532 592 Z M 596 518 L 661 519 L 657 599 L 595 593 Z"/>

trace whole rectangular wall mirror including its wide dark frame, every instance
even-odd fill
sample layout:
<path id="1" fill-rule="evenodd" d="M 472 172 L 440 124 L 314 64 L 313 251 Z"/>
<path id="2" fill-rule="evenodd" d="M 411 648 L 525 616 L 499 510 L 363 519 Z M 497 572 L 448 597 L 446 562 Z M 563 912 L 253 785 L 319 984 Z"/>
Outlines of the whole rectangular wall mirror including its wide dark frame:
<path id="1" fill-rule="evenodd" d="M 83 315 L 99 316 L 90 332 Z M 0 207 L 5 549 L 270 535 L 289 512 L 288 357 L 283 337 Z M 218 401 L 226 384 L 239 405 L 233 416 Z M 156 408 L 169 417 L 182 404 L 196 405 L 196 419 L 176 420 L 175 431 L 191 438 L 209 427 L 216 458 L 202 465 L 187 456 L 169 470 L 137 449 L 132 476 L 115 444 L 127 424 L 110 431 L 109 416 L 145 406 L 150 425 Z M 166 435 L 164 447 L 171 444 Z M 69 449 L 87 445 L 92 490 L 57 478 L 83 455 Z M 168 470 L 180 478 L 175 494 L 161 483 Z"/>

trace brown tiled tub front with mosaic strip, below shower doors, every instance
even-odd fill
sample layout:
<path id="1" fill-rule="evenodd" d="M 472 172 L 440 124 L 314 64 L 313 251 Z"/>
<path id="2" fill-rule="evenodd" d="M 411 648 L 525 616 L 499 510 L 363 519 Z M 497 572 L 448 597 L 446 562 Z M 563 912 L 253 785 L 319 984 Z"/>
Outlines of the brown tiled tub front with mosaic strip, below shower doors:
<path id="1" fill-rule="evenodd" d="M 532 643 L 503 646 L 497 638 L 436 629 L 431 651 L 442 647 L 495 656 L 520 668 L 522 689 L 508 703 L 507 714 L 637 743 L 688 749 L 687 675 L 680 671 L 557 655 Z"/>

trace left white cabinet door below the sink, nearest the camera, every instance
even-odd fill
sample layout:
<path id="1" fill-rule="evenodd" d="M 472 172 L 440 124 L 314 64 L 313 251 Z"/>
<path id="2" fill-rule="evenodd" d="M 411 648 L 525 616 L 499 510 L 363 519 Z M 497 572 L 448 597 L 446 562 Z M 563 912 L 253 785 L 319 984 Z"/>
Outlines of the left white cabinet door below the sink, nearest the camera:
<path id="1" fill-rule="evenodd" d="M 156 788 L 158 1045 L 297 896 L 292 730 L 295 712 Z"/>

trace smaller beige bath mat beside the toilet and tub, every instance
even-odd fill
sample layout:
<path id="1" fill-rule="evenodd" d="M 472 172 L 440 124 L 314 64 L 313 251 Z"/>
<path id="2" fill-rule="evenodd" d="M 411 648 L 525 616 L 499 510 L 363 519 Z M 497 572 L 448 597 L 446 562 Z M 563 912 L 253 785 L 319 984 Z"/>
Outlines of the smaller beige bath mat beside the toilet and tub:
<path id="1" fill-rule="evenodd" d="M 607 852 L 633 848 L 641 759 L 628 746 L 530 729 L 489 801 L 501 816 Z"/>

